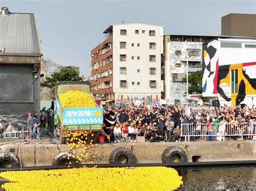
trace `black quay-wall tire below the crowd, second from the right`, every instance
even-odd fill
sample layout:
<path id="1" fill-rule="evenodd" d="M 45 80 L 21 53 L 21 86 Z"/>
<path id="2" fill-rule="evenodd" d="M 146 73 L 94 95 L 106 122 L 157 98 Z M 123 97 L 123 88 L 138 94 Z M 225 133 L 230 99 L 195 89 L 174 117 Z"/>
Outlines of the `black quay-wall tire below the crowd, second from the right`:
<path id="1" fill-rule="evenodd" d="M 129 148 L 117 147 L 110 153 L 110 164 L 135 164 L 135 156 Z"/>

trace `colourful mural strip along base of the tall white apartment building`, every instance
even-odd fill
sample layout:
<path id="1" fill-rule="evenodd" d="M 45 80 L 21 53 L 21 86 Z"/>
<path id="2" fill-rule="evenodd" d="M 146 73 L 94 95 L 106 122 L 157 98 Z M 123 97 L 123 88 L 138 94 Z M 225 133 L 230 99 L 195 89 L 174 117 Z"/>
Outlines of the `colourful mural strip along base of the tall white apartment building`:
<path id="1" fill-rule="evenodd" d="M 116 104 L 130 104 L 140 101 L 146 104 L 159 104 L 160 94 L 115 94 Z"/>

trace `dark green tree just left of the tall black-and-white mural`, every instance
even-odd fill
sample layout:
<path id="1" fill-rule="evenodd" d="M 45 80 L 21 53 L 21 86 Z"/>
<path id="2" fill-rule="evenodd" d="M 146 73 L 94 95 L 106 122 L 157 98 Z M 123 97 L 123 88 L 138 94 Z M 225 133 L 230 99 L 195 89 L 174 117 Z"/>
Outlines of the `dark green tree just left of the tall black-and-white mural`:
<path id="1" fill-rule="evenodd" d="M 197 72 L 188 75 L 188 94 L 202 93 L 202 79 L 202 70 L 198 70 Z M 186 77 L 183 77 L 182 82 L 186 83 Z"/>

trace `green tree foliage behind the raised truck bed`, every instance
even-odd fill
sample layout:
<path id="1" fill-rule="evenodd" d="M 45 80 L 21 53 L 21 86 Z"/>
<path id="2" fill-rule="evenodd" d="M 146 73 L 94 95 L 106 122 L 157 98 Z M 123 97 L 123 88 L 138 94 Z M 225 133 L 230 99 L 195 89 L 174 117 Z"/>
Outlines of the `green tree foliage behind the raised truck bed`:
<path id="1" fill-rule="evenodd" d="M 50 77 L 45 77 L 46 83 L 50 87 L 55 87 L 57 81 L 80 81 L 82 77 L 79 77 L 79 74 L 69 68 L 61 68 L 58 72 L 54 72 Z"/>

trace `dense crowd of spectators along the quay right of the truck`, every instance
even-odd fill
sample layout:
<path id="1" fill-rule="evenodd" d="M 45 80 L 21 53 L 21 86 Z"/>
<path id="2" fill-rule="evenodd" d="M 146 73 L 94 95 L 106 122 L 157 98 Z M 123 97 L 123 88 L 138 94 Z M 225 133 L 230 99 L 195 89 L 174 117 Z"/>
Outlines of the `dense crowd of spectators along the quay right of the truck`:
<path id="1" fill-rule="evenodd" d="M 185 106 L 137 107 L 115 105 L 104 108 L 104 113 L 113 111 L 117 116 L 114 126 L 103 129 L 109 142 L 137 142 L 143 137 L 149 142 L 180 142 L 181 134 L 190 135 L 190 141 L 252 139 L 256 127 L 254 107 L 220 107 L 201 109 L 185 114 Z M 187 128 L 186 125 L 187 124 Z M 246 132 L 245 132 L 246 131 Z M 217 136 L 216 132 L 218 133 Z M 225 136 L 230 135 L 231 136 Z M 244 136 L 247 135 L 247 136 Z"/>

